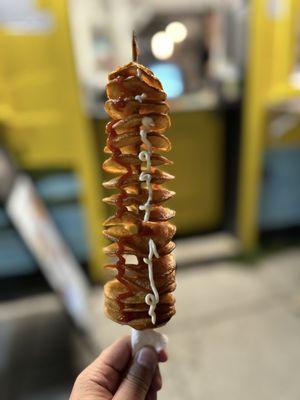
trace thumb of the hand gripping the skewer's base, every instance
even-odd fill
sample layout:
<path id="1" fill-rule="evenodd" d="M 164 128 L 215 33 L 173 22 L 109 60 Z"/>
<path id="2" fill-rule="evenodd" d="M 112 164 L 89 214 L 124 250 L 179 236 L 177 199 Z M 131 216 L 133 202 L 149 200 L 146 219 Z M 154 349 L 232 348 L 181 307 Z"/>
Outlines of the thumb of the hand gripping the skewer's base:
<path id="1" fill-rule="evenodd" d="M 114 400 L 144 400 L 150 388 L 158 357 L 152 347 L 143 347 L 135 356 Z"/>

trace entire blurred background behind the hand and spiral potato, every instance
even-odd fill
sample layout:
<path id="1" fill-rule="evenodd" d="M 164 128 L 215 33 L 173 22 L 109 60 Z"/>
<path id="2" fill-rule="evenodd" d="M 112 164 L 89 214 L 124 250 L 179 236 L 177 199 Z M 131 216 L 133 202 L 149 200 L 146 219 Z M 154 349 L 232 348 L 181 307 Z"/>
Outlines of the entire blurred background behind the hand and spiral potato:
<path id="1" fill-rule="evenodd" d="M 0 388 L 68 399 L 102 312 L 107 74 L 171 107 L 177 315 L 161 399 L 300 396 L 300 1 L 0 0 Z"/>

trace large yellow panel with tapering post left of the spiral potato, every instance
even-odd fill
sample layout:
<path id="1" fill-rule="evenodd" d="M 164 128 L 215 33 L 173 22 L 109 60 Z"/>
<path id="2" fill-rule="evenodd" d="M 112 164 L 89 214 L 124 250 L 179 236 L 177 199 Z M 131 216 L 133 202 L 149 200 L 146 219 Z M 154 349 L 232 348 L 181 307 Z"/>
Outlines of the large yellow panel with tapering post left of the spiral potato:
<path id="1" fill-rule="evenodd" d="M 93 130 L 82 112 L 70 41 L 67 3 L 43 0 L 53 28 L 42 33 L 0 30 L 0 118 L 5 144 L 27 169 L 71 168 L 81 181 L 90 274 L 103 269 L 101 185 Z M 2 90 L 2 86 L 1 86 Z"/>

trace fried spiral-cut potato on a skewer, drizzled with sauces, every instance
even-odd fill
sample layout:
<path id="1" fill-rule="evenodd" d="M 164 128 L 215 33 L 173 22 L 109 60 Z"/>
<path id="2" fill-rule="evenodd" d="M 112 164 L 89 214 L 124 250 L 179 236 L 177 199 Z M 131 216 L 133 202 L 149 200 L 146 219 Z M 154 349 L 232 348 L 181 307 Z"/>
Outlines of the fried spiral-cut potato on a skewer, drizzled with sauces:
<path id="1" fill-rule="evenodd" d="M 116 213 L 104 222 L 104 235 L 113 243 L 104 249 L 114 262 L 115 279 L 105 285 L 105 313 L 135 329 L 165 324 L 175 314 L 175 260 L 172 237 L 176 228 L 169 220 L 175 212 L 163 206 L 174 192 L 161 185 L 174 177 L 159 169 L 172 162 L 161 152 L 171 143 L 169 107 L 162 85 L 153 73 L 136 62 L 109 75 L 105 110 L 104 162 L 115 175 L 104 187 L 115 191 L 104 202 Z M 135 260 L 126 261 L 127 256 Z"/>

